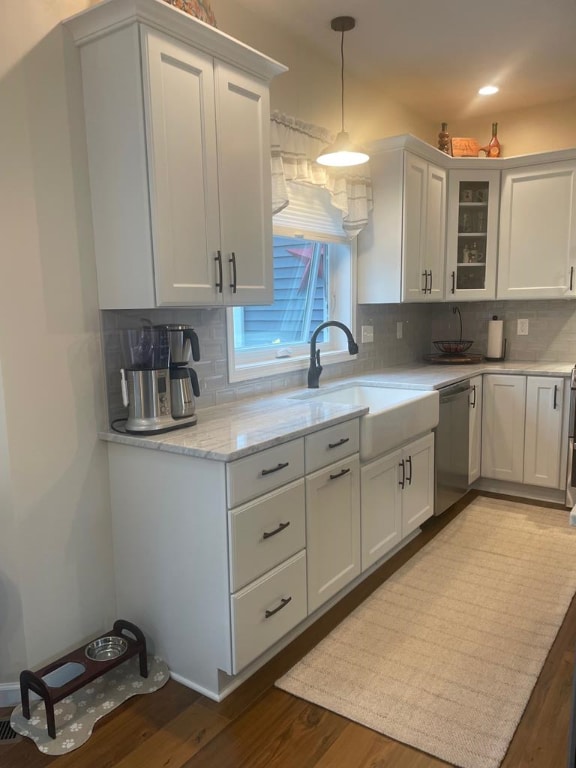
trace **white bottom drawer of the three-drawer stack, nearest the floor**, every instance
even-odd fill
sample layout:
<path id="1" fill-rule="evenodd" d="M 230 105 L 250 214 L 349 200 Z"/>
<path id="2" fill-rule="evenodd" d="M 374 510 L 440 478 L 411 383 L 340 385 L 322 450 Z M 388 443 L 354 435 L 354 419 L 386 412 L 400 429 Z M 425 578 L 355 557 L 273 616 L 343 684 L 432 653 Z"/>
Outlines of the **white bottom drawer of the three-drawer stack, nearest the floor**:
<path id="1" fill-rule="evenodd" d="M 236 674 L 306 618 L 306 552 L 232 595 L 231 609 Z"/>

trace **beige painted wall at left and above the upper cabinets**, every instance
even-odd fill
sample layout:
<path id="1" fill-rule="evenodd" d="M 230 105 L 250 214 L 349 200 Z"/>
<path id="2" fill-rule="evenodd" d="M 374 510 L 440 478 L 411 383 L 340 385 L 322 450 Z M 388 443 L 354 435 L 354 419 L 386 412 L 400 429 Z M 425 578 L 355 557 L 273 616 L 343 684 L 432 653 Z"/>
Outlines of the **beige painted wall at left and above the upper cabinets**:
<path id="1" fill-rule="evenodd" d="M 78 52 L 89 0 L 0 0 L 0 700 L 2 683 L 115 615 L 103 373 Z M 333 64 L 215 3 L 220 28 L 286 63 L 272 105 L 334 131 Z M 347 86 L 358 141 L 437 126 Z M 574 104 L 501 119 L 512 153 L 574 144 Z M 529 126 L 529 130 L 527 129 Z M 479 129 L 478 129 L 479 130 Z"/>

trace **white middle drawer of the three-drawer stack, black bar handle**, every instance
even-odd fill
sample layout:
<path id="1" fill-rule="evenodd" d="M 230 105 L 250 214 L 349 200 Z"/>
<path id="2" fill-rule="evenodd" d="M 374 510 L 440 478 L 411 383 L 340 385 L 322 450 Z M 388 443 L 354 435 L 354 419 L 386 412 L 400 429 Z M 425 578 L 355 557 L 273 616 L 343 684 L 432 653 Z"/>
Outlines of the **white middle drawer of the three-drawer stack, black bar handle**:
<path id="1" fill-rule="evenodd" d="M 230 512 L 230 591 L 306 546 L 304 480 Z"/>

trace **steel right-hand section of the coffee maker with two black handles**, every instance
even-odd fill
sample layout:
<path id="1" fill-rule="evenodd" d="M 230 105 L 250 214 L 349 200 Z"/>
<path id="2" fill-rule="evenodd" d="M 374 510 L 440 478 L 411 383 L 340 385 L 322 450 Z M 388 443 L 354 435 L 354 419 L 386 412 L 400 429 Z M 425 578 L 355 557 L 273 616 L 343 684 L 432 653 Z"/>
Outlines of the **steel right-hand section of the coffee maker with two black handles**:
<path id="1" fill-rule="evenodd" d="M 155 329 L 166 334 L 170 349 L 172 418 L 188 420 L 196 410 L 194 396 L 200 396 L 198 376 L 188 366 L 190 357 L 194 361 L 200 360 L 198 335 L 190 325 L 157 325 Z"/>

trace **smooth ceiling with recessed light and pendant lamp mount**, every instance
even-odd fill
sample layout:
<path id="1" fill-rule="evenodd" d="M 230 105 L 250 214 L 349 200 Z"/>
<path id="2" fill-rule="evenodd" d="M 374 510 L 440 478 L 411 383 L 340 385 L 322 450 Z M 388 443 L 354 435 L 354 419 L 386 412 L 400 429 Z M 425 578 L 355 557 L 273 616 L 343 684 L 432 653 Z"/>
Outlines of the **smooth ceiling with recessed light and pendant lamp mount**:
<path id="1" fill-rule="evenodd" d="M 238 0 L 435 121 L 576 98 L 576 0 Z M 500 93 L 478 97 L 486 83 Z"/>

